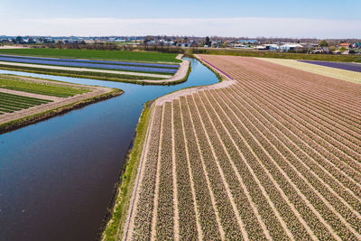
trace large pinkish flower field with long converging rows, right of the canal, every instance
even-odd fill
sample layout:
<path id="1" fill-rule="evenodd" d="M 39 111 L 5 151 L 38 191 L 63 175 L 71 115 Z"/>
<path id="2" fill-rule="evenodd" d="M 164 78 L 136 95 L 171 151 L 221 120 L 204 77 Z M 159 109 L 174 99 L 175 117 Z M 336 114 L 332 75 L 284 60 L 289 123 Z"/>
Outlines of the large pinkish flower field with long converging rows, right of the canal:
<path id="1" fill-rule="evenodd" d="M 126 240 L 360 240 L 361 86 L 199 56 L 236 83 L 155 101 Z"/>

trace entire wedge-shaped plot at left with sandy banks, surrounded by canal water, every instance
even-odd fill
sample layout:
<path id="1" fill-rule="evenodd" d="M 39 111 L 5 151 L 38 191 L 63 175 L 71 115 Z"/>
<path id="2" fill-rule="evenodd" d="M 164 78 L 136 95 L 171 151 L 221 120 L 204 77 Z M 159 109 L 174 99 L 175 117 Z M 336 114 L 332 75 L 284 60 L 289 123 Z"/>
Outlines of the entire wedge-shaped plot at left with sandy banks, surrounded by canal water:
<path id="1" fill-rule="evenodd" d="M 0 75 L 0 134 L 122 93 L 116 88 Z"/>

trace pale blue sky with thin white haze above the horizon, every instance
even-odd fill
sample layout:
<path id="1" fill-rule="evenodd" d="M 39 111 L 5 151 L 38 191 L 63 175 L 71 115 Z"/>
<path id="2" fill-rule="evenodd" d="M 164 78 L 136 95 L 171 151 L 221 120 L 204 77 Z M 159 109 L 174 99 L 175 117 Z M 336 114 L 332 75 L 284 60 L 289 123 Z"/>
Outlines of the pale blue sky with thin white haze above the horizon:
<path id="1" fill-rule="evenodd" d="M 0 35 L 361 38 L 360 0 L 0 0 Z"/>

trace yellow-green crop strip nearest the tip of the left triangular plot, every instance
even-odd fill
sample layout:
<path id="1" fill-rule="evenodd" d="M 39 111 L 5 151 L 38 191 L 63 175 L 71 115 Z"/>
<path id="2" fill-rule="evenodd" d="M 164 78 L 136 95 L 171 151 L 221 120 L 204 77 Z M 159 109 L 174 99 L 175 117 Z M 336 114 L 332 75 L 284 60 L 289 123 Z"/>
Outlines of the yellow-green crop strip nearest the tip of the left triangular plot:
<path id="1" fill-rule="evenodd" d="M 59 84 L 28 81 L 12 76 L 0 75 L 0 88 L 18 90 L 52 97 L 73 97 L 88 92 L 87 88 L 76 88 Z"/>

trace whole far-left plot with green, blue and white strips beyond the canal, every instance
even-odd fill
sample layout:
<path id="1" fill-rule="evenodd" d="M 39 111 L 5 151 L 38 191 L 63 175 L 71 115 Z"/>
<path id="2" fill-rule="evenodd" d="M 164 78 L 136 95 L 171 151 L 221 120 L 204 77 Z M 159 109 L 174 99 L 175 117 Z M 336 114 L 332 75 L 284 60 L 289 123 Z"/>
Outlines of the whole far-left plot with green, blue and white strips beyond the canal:
<path id="1" fill-rule="evenodd" d="M 7 49 L 0 50 L 0 68 L 84 79 L 164 85 L 185 81 L 189 65 L 175 53 Z"/>

